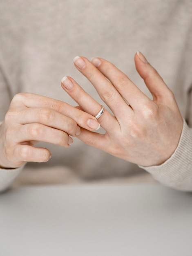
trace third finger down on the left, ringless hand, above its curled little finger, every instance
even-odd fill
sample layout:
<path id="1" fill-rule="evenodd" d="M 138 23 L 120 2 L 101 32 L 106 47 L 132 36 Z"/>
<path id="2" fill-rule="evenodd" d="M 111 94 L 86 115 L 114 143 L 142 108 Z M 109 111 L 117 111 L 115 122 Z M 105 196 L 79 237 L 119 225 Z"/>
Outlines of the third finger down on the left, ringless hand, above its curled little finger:
<path id="1" fill-rule="evenodd" d="M 51 144 L 68 147 L 73 143 L 73 139 L 66 132 L 54 129 L 42 124 L 25 124 L 16 126 L 15 130 L 16 143 L 24 141 L 44 141 Z"/>

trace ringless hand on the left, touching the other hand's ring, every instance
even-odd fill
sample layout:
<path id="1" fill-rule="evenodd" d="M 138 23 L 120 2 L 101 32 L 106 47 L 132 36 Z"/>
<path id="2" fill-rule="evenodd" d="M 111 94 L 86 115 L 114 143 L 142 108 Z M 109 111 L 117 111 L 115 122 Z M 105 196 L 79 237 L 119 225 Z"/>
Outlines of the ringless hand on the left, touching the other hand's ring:
<path id="1" fill-rule="evenodd" d="M 11 101 L 0 126 L 0 167 L 16 168 L 25 162 L 47 162 L 47 148 L 33 147 L 38 141 L 68 147 L 80 127 L 99 128 L 96 118 L 69 104 L 37 94 L 20 93 Z"/>

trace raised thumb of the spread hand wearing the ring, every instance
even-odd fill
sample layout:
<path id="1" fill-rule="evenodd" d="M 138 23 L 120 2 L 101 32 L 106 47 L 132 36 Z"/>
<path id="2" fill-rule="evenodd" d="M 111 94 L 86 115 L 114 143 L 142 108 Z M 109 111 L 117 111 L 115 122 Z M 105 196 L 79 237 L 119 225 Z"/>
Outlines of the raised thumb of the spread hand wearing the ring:
<path id="1" fill-rule="evenodd" d="M 150 90 L 154 101 L 165 100 L 170 97 L 170 89 L 167 87 L 159 73 L 147 62 L 141 52 L 135 54 L 135 66 L 138 74 L 143 78 L 147 88 Z"/>

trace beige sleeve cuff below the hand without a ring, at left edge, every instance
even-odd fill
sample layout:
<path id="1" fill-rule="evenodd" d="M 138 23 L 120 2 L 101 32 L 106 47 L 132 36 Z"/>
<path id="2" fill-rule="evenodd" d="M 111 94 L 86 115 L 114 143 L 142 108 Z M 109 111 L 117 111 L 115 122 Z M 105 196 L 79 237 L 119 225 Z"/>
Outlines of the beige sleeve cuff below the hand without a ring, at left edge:
<path id="1" fill-rule="evenodd" d="M 24 166 L 16 169 L 1 169 L 0 168 L 0 193 L 5 191 L 15 180 Z"/>

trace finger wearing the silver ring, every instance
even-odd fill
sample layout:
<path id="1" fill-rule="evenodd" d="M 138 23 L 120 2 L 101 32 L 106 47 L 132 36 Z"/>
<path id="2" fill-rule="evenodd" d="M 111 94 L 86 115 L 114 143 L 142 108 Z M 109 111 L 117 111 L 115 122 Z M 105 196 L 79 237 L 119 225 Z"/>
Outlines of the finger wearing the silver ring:
<path id="1" fill-rule="evenodd" d="M 95 101 L 83 88 L 74 81 L 71 77 L 64 77 L 61 81 L 62 88 L 79 104 L 79 106 L 89 114 L 96 116 L 101 110 L 101 105 Z M 108 132 L 118 126 L 116 118 L 112 116 L 107 110 L 98 119 L 100 125 Z"/>

